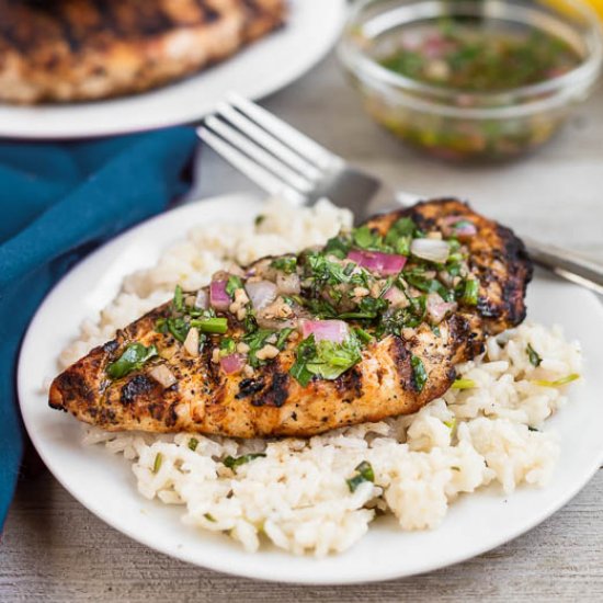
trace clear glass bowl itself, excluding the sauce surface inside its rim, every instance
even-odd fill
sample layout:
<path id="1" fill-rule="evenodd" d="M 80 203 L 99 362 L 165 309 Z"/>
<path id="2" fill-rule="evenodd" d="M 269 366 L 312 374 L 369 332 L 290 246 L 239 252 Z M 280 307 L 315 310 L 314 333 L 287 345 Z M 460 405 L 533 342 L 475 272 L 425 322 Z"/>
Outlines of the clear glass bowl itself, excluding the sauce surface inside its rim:
<path id="1" fill-rule="evenodd" d="M 561 76 L 497 92 L 426 84 L 380 65 L 405 27 L 443 18 L 539 30 L 565 41 L 579 62 Z M 593 89 L 602 48 L 595 14 L 578 0 L 363 0 L 351 11 L 338 55 L 366 111 L 394 134 L 445 159 L 492 160 L 553 136 Z"/>

